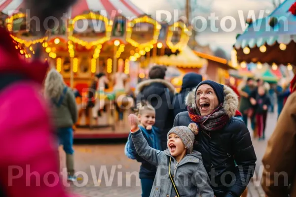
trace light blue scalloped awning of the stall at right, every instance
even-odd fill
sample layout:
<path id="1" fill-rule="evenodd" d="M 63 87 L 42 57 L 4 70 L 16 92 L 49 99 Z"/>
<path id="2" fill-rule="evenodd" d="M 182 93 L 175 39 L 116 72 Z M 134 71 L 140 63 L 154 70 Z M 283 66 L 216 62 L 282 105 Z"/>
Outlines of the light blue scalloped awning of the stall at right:
<path id="1" fill-rule="evenodd" d="M 286 0 L 268 17 L 254 21 L 243 34 L 237 37 L 234 47 L 236 49 L 254 48 L 265 43 L 273 45 L 275 42 L 284 44 L 296 42 L 296 16 L 289 11 L 293 3 L 295 0 Z M 269 21 L 273 17 L 277 19 L 277 23 L 271 27 Z"/>

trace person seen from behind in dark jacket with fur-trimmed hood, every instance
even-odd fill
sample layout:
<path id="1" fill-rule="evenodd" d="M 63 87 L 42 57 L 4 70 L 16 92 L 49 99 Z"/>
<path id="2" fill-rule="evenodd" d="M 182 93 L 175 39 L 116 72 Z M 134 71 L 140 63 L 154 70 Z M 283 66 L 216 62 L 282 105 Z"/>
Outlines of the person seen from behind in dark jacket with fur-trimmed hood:
<path id="1" fill-rule="evenodd" d="M 161 133 L 162 150 L 167 147 L 167 133 L 174 123 L 172 103 L 175 88 L 164 79 L 165 73 L 165 66 L 153 66 L 149 71 L 149 79 L 139 83 L 135 91 L 137 103 L 141 100 L 147 100 L 155 108 L 155 127 Z"/>

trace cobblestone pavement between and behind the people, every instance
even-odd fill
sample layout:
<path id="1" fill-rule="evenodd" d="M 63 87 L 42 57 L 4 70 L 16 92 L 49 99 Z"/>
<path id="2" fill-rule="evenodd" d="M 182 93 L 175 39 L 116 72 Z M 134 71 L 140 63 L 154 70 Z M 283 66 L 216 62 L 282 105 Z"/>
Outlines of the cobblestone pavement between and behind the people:
<path id="1" fill-rule="evenodd" d="M 257 154 L 257 173 L 265 152 L 267 139 L 276 124 L 276 114 L 269 114 L 266 140 L 252 139 Z M 252 136 L 252 130 L 250 130 Z M 124 143 L 75 145 L 75 169 L 79 172 L 77 183 L 69 189 L 84 197 L 141 197 L 138 171 L 140 164 L 124 155 Z M 63 152 L 63 151 L 60 151 Z M 65 165 L 65 155 L 61 153 L 61 165 Z M 249 185 L 248 197 L 264 197 L 257 176 Z"/>

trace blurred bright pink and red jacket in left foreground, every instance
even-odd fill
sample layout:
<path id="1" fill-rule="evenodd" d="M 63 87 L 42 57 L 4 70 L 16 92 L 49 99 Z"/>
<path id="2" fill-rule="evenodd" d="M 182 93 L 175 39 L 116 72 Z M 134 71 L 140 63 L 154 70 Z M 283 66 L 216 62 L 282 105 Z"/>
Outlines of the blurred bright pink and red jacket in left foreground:
<path id="1" fill-rule="evenodd" d="M 70 197 L 59 178 L 57 144 L 40 93 L 48 66 L 25 63 L 9 34 L 3 29 L 0 34 L 2 79 L 6 74 L 27 79 L 0 90 L 0 191 L 4 197 Z"/>

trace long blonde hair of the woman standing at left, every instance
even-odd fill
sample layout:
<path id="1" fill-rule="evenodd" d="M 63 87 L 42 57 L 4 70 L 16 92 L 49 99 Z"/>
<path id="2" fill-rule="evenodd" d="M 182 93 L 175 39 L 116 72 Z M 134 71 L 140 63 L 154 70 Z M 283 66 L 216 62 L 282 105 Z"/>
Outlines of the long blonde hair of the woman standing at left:
<path id="1" fill-rule="evenodd" d="M 63 76 L 54 68 L 47 73 L 44 84 L 44 95 L 51 99 L 58 99 L 63 93 L 65 83 Z"/>

